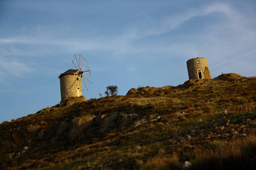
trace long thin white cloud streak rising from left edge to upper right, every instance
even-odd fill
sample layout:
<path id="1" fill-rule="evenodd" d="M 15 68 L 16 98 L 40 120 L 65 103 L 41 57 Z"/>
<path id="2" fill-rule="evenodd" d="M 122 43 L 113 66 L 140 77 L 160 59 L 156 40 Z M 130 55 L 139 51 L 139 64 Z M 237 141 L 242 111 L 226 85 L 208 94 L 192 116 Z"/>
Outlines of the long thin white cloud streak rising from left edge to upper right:
<path id="1" fill-rule="evenodd" d="M 111 39 L 102 39 L 101 37 L 96 37 L 90 40 L 79 40 L 79 38 L 54 38 L 54 35 L 39 36 L 39 37 L 2 37 L 0 38 L 0 43 L 23 43 L 23 44 L 47 44 L 47 45 L 57 45 L 57 46 L 78 46 L 78 48 L 90 49 L 114 49 L 113 46 L 117 44 L 123 45 L 125 43 L 130 43 L 134 40 L 139 40 L 144 37 L 165 34 L 166 32 L 172 31 L 178 28 L 179 25 L 187 22 L 188 20 L 197 17 L 205 16 L 209 13 L 224 13 L 226 16 L 232 16 L 234 13 L 226 4 L 215 3 L 202 9 L 191 9 L 187 12 L 181 13 L 178 16 L 172 16 L 169 19 L 165 19 L 160 26 L 155 25 L 155 28 L 132 28 L 125 31 L 123 34 L 116 35 L 116 37 L 111 37 Z M 125 46 L 125 45 L 124 45 Z M 115 48 L 116 49 L 116 48 Z"/>

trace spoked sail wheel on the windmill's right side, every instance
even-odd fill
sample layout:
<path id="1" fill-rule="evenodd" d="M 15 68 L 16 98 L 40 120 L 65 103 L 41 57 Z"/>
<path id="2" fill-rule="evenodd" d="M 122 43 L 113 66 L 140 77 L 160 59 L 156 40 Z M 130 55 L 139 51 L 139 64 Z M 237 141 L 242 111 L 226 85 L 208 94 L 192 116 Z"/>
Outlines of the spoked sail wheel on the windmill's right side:
<path id="1" fill-rule="evenodd" d="M 88 87 L 87 87 L 87 82 L 85 81 L 85 79 L 87 79 L 87 81 L 88 82 L 90 82 L 90 83 L 92 83 L 91 81 L 90 81 L 90 79 L 88 79 L 87 78 L 87 76 L 84 76 L 84 74 L 90 74 L 90 69 L 89 69 L 89 67 L 88 67 L 88 64 L 87 64 L 87 61 L 85 60 L 85 62 L 84 62 L 84 66 L 81 68 L 81 58 L 83 58 L 81 55 L 79 55 L 79 61 L 78 61 L 78 58 L 77 58 L 77 55 L 75 55 L 75 60 L 78 62 L 78 66 L 74 63 L 74 61 L 72 61 L 72 63 L 75 65 L 75 67 L 78 69 L 78 71 L 79 71 L 79 73 L 78 73 L 78 76 L 80 76 L 80 79 L 83 77 L 83 79 L 84 79 L 84 85 L 85 85 L 85 87 L 87 88 L 87 90 L 88 90 Z M 84 59 L 84 58 L 83 58 Z M 84 71 L 84 68 L 85 68 L 85 66 L 87 65 L 87 70 L 86 71 Z M 83 88 L 83 85 L 81 85 L 81 88 L 82 88 L 82 90 L 84 91 L 84 88 Z"/>

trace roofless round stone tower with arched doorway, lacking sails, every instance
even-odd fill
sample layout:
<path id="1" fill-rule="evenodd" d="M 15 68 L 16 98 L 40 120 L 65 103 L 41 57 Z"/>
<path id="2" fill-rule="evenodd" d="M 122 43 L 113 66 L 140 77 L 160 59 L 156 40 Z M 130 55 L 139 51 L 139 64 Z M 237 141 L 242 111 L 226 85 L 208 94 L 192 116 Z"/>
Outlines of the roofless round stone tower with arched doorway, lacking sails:
<path id="1" fill-rule="evenodd" d="M 189 79 L 212 79 L 206 58 L 191 58 L 187 60 Z"/>

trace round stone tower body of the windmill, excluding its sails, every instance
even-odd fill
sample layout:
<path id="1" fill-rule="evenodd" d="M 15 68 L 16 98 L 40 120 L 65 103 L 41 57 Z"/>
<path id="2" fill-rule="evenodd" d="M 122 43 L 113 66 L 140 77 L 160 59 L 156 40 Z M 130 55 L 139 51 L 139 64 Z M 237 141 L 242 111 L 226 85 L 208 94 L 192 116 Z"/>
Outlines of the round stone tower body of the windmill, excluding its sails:
<path id="1" fill-rule="evenodd" d="M 59 75 L 61 100 L 82 96 L 82 83 L 79 70 L 67 70 Z"/>

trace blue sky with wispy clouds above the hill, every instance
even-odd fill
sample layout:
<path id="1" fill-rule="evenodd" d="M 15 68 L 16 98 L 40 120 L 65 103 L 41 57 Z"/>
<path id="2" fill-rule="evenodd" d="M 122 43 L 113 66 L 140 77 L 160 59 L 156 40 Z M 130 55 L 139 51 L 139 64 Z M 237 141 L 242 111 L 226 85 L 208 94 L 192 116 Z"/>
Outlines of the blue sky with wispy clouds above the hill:
<path id="1" fill-rule="evenodd" d="M 60 101 L 59 75 L 82 55 L 92 84 L 83 94 L 180 85 L 186 61 L 256 76 L 254 0 L 0 0 L 0 123 Z"/>

